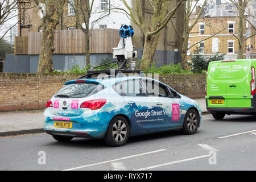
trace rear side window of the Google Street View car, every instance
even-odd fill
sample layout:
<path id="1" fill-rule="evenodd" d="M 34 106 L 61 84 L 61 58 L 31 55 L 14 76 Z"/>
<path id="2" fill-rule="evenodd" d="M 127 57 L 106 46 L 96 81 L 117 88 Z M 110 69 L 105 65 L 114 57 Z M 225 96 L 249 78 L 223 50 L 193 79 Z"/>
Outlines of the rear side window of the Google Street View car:
<path id="1" fill-rule="evenodd" d="M 113 85 L 115 92 L 121 96 L 147 96 L 139 80 L 126 80 Z"/>

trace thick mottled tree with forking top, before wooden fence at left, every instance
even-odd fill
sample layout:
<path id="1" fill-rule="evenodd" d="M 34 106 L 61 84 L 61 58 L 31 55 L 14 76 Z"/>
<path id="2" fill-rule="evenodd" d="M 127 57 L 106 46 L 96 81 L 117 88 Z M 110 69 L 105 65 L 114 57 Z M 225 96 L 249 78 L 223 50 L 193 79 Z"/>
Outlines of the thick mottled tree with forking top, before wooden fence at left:
<path id="1" fill-rule="evenodd" d="M 43 15 L 43 27 L 41 48 L 39 55 L 38 73 L 52 72 L 53 62 L 52 54 L 54 48 L 54 35 L 60 16 L 63 14 L 63 6 L 66 0 L 34 0 L 36 5 L 44 3 L 46 12 Z"/>

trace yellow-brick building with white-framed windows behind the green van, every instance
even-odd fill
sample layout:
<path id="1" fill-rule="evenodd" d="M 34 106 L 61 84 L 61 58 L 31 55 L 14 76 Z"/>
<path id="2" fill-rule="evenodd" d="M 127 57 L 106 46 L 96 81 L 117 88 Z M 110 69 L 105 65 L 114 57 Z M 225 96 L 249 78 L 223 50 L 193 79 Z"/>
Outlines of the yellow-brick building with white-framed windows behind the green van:
<path id="1" fill-rule="evenodd" d="M 224 57 L 226 60 L 237 59 L 238 40 L 235 36 L 238 36 L 238 19 L 236 14 L 233 13 L 232 8 L 229 12 L 222 6 L 222 4 L 213 4 L 212 6 L 208 6 L 205 13 L 201 15 L 199 21 L 196 23 L 196 26 L 193 27 L 191 34 L 189 35 L 188 47 L 200 42 L 201 40 L 208 39 L 189 49 L 187 53 L 188 56 L 194 53 L 196 47 L 199 47 L 201 48 L 200 53 L 204 56 L 211 56 L 214 55 L 214 53 L 219 52 L 225 53 Z M 200 7 L 197 7 L 195 14 L 191 15 L 189 20 L 190 23 L 195 21 L 199 8 Z M 243 26 L 245 30 L 243 36 L 246 36 L 246 23 Z M 191 58 L 189 57 L 188 60 L 190 59 Z"/>

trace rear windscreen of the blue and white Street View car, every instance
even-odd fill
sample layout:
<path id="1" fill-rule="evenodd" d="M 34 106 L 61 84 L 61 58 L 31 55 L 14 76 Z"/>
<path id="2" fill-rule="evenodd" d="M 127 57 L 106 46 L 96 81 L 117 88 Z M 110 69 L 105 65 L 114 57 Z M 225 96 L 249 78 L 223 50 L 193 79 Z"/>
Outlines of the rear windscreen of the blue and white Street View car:
<path id="1" fill-rule="evenodd" d="M 85 83 L 72 83 L 63 86 L 55 94 L 57 98 L 82 98 L 82 97 L 89 97 L 92 94 L 100 92 L 101 90 L 105 89 L 105 86 L 94 83 L 94 82 L 85 82 Z"/>

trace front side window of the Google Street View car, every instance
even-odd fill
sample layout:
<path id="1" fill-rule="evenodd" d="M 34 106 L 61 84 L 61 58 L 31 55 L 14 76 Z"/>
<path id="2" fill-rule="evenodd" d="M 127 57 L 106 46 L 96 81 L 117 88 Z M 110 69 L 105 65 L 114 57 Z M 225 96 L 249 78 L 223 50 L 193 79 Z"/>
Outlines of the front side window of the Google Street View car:
<path id="1" fill-rule="evenodd" d="M 143 83 L 146 85 L 149 96 L 169 97 L 168 89 L 166 88 L 166 86 L 160 84 L 159 82 L 152 80 L 143 80 Z"/>

